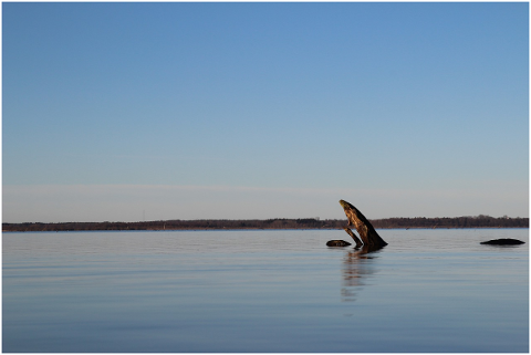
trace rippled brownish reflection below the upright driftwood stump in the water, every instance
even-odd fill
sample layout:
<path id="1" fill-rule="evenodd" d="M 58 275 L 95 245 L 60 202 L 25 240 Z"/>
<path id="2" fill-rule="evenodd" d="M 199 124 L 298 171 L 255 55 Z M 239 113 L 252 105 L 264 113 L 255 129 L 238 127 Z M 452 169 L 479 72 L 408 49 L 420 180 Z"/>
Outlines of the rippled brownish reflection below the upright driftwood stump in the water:
<path id="1" fill-rule="evenodd" d="M 363 290 L 365 279 L 377 272 L 374 265 L 377 251 L 382 249 L 364 246 L 361 249 L 351 249 L 343 258 L 343 286 L 341 289 L 342 302 L 356 301 L 357 293 Z"/>

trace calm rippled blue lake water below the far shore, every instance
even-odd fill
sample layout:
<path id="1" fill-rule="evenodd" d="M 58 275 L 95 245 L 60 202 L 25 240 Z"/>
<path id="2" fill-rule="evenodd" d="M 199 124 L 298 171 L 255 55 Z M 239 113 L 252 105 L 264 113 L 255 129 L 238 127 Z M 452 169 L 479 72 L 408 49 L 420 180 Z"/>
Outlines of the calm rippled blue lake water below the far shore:
<path id="1" fill-rule="evenodd" d="M 378 232 L 3 233 L 2 351 L 529 352 L 528 229 Z"/>

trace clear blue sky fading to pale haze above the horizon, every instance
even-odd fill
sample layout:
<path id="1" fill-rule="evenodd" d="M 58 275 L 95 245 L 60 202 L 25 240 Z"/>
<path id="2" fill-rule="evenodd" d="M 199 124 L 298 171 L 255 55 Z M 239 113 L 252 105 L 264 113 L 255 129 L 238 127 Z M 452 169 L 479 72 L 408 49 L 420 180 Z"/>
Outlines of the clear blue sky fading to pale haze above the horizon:
<path id="1" fill-rule="evenodd" d="M 4 222 L 528 217 L 529 4 L 2 3 Z"/>

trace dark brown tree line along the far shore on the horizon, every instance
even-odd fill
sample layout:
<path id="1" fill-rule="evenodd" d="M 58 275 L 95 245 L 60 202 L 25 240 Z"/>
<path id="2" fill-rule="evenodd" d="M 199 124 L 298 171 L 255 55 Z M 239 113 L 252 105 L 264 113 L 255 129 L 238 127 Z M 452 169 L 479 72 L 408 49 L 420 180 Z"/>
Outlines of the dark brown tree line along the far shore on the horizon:
<path id="1" fill-rule="evenodd" d="M 145 222 L 64 222 L 2 223 L 2 231 L 90 231 L 90 230 L 222 230 L 222 229 L 342 229 L 346 219 L 204 219 L 159 220 Z M 456 218 L 386 218 L 374 219 L 376 229 L 407 228 L 529 228 L 529 218 L 494 218 L 490 216 Z"/>

